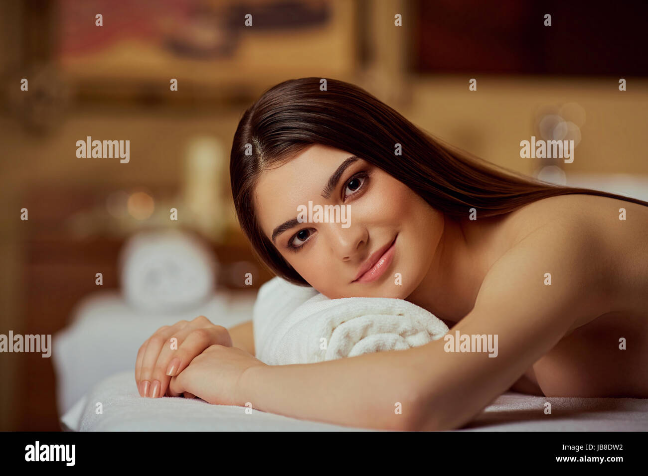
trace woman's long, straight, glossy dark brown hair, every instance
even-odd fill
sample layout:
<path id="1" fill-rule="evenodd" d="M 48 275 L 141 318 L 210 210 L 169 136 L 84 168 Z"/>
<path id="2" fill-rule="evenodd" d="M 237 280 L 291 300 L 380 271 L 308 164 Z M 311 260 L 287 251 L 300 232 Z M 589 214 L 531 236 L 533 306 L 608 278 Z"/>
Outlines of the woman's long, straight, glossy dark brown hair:
<path id="1" fill-rule="evenodd" d="M 309 286 L 261 231 L 254 209 L 260 174 L 290 161 L 312 144 L 338 148 L 380 167 L 444 214 L 459 218 L 470 208 L 480 218 L 505 214 L 527 203 L 564 194 L 648 202 L 561 187 L 487 163 L 426 133 L 364 89 L 321 78 L 284 81 L 245 111 L 229 162 L 234 205 L 243 232 L 262 263 L 294 284 Z M 395 155 L 396 144 L 402 155 Z M 500 170 L 498 170 L 500 169 Z"/>

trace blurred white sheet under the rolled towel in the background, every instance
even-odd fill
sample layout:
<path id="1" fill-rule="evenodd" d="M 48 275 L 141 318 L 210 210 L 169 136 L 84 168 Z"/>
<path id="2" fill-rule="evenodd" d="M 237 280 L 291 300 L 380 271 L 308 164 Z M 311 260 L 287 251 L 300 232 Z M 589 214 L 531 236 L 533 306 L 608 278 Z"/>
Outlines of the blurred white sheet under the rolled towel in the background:
<path id="1" fill-rule="evenodd" d="M 255 298 L 255 291 L 236 299 L 216 293 L 184 312 L 147 313 L 130 306 L 119 291 L 89 295 L 76 306 L 71 324 L 52 336 L 59 414 L 104 378 L 126 369 L 134 373 L 139 346 L 159 327 L 205 315 L 229 328 L 252 319 Z"/>

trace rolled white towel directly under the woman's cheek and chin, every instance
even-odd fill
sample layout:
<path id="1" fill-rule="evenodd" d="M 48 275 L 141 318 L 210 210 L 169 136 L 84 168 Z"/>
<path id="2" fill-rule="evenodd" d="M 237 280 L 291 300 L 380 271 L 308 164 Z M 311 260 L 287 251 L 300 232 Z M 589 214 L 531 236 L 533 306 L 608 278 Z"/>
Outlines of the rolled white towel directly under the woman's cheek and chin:
<path id="1" fill-rule="evenodd" d="M 404 350 L 440 339 L 448 332 L 441 319 L 406 300 L 328 299 L 320 293 L 273 324 L 257 339 L 257 358 L 268 365 Z"/>

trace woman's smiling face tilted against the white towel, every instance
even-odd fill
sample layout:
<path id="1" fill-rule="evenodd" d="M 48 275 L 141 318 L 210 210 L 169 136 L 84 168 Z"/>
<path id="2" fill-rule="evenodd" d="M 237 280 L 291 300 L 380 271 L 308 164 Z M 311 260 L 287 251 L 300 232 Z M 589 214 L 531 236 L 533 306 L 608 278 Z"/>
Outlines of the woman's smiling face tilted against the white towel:
<path id="1" fill-rule="evenodd" d="M 329 299 L 405 299 L 430 268 L 443 214 L 377 166 L 347 160 L 352 155 L 315 144 L 263 172 L 255 189 L 261 229 Z"/>

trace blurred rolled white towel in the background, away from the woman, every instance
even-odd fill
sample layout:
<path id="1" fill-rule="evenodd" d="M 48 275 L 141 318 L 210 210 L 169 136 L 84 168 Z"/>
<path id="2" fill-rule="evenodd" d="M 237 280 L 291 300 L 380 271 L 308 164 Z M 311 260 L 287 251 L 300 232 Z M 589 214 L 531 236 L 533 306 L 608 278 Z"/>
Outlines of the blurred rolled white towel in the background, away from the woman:
<path id="1" fill-rule="evenodd" d="M 210 299 L 218 261 L 201 240 L 184 231 L 143 231 L 119 256 L 125 299 L 147 311 L 176 312 Z"/>

